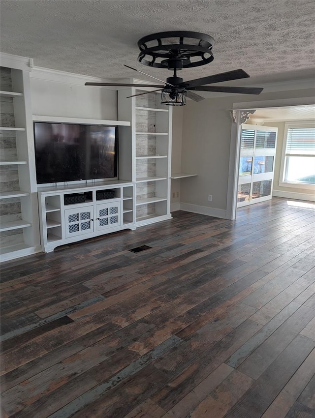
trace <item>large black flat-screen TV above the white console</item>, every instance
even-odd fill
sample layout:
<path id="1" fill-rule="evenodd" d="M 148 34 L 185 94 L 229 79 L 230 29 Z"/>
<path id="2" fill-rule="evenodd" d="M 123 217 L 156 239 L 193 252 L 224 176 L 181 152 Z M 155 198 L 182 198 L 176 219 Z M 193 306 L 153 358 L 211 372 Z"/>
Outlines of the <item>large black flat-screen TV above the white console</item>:
<path id="1" fill-rule="evenodd" d="M 38 184 L 117 177 L 116 126 L 34 122 Z"/>

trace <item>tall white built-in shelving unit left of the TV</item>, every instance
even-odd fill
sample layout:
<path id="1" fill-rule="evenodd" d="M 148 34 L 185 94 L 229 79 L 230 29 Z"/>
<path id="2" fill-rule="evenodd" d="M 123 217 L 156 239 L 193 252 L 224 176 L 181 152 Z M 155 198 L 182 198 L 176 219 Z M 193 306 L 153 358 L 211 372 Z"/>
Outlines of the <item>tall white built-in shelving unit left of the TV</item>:
<path id="1" fill-rule="evenodd" d="M 1 60 L 0 260 L 40 250 L 30 98 L 31 68 Z"/>

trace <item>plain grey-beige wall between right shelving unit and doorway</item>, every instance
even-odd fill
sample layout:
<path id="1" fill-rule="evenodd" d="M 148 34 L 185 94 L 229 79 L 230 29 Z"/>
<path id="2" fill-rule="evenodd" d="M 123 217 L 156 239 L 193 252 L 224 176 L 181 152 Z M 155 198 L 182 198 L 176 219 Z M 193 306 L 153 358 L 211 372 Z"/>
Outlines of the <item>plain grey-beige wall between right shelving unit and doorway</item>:
<path id="1" fill-rule="evenodd" d="M 255 101 L 314 96 L 314 89 L 277 91 L 255 96 Z M 233 103 L 252 102 L 252 96 L 235 95 L 189 101 L 183 114 L 182 171 L 197 173 L 181 188 L 181 208 L 194 205 L 199 213 L 216 216 L 226 210 L 231 118 Z M 194 180 L 192 180 L 194 179 Z M 212 202 L 208 201 L 212 194 Z M 183 205 L 185 204 L 185 205 Z M 199 208 L 198 208 L 199 207 Z M 213 213 L 212 213 L 213 212 Z"/>

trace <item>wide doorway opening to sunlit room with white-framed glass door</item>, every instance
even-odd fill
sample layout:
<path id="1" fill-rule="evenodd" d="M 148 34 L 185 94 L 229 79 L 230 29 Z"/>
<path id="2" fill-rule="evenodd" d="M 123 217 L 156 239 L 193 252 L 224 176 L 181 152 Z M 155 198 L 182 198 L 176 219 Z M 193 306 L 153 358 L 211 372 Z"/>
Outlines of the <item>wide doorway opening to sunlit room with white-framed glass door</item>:
<path id="1" fill-rule="evenodd" d="M 237 208 L 272 196 L 315 201 L 315 105 L 237 110 L 235 113 L 231 219 L 235 219 Z M 292 127 L 291 131 L 288 127 Z M 290 137 L 293 140 L 288 139 L 288 132 L 294 133 L 295 137 Z M 294 181 L 287 176 L 288 167 L 291 176 L 294 171 Z"/>

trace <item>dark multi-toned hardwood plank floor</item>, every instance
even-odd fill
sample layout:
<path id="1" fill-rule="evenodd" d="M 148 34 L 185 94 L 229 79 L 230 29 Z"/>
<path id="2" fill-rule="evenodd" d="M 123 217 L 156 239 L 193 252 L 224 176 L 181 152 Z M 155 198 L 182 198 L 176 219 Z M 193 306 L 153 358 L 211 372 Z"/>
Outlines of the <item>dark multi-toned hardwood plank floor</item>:
<path id="1" fill-rule="evenodd" d="M 295 205 L 3 263 L 1 417 L 314 418 L 315 204 Z"/>

